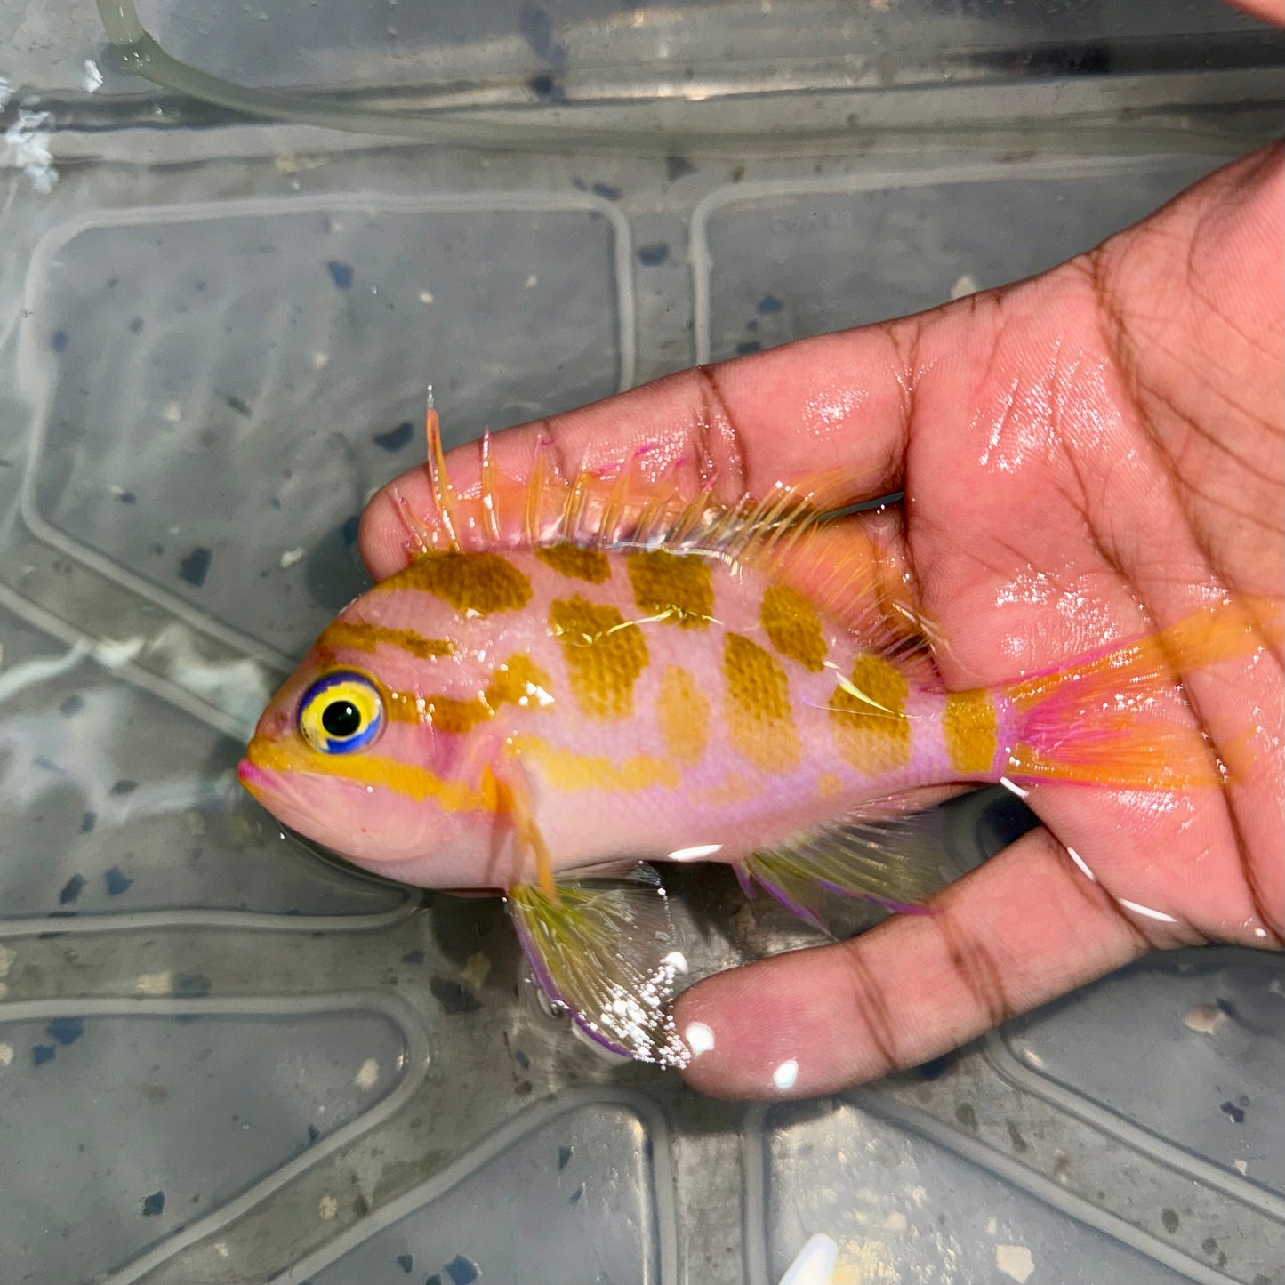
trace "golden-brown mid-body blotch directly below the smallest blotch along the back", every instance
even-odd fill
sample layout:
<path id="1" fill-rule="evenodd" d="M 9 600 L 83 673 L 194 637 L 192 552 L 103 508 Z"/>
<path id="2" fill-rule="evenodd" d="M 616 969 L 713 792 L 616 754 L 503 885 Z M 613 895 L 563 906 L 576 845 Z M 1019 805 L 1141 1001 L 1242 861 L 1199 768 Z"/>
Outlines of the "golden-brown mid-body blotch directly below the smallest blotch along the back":
<path id="1" fill-rule="evenodd" d="M 578 594 L 555 599 L 549 627 L 562 642 L 571 690 L 591 718 L 628 718 L 634 684 L 646 668 L 642 631 L 614 608 Z"/>

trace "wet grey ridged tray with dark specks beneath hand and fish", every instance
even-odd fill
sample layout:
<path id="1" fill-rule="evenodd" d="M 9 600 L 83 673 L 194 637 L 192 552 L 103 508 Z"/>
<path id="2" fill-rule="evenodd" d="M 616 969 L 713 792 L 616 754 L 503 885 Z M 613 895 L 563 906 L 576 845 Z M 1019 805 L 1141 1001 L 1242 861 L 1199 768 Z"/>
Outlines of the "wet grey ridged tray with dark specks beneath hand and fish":
<path id="1" fill-rule="evenodd" d="M 251 10 L 157 30 L 252 81 L 412 84 L 428 63 L 386 67 L 382 40 L 430 62 L 441 37 L 474 71 L 520 50 L 524 85 L 560 45 L 574 69 L 576 32 L 618 6 L 450 30 L 407 12 L 396 39 L 370 26 L 393 10 L 350 6 L 343 75 L 311 9 Z M 30 31 L 26 6 L 0 14 L 0 37 Z M 974 17 L 969 49 L 1004 15 Z M 1027 18 L 1023 39 L 1081 42 L 1122 21 Z M 248 62 L 229 53 L 247 30 L 267 42 Z M 364 583 L 353 519 L 419 459 L 424 384 L 463 441 L 1019 278 L 1219 157 L 141 128 L 76 85 L 91 58 L 108 95 L 146 86 L 94 31 L 58 33 L 37 80 L 100 123 L 67 128 L 48 193 L 6 171 L 0 202 L 0 1275 L 772 1285 L 826 1232 L 848 1285 L 1285 1282 L 1276 957 L 1144 961 L 869 1092 L 723 1106 L 547 1018 L 493 901 L 324 864 L 231 777 L 263 696 Z M 955 102 L 898 93 L 937 121 Z M 955 807 L 955 858 L 1015 824 L 1002 798 Z M 698 970 L 808 939 L 725 871 L 669 884 Z"/>

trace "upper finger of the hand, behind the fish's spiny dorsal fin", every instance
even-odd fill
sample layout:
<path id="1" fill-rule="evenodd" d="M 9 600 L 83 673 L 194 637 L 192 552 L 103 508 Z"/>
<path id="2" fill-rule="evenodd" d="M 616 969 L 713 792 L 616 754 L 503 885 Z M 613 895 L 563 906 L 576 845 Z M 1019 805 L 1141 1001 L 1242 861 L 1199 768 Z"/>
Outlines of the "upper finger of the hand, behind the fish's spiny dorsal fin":
<path id="1" fill-rule="evenodd" d="M 867 326 L 786 344 L 770 352 L 696 366 L 604 401 L 506 429 L 491 439 L 496 466 L 526 479 L 544 443 L 563 475 L 607 469 L 641 447 L 657 473 L 686 461 L 693 488 L 714 482 L 725 500 L 761 495 L 789 481 L 843 465 L 853 488 L 874 499 L 901 487 L 912 387 L 911 321 Z M 481 487 L 475 445 L 447 456 L 461 495 Z M 418 553 L 402 505 L 432 527 L 436 508 L 423 466 L 375 493 L 361 520 L 360 546 L 375 580 Z"/>

